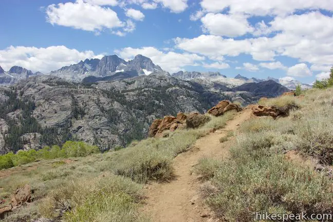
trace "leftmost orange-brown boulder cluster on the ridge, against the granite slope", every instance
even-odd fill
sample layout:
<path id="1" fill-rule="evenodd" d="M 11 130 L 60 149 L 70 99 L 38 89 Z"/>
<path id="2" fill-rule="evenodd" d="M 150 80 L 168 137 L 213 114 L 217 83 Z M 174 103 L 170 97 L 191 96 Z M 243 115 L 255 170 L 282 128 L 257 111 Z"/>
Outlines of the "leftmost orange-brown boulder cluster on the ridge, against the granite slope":
<path id="1" fill-rule="evenodd" d="M 177 128 L 185 128 L 186 119 L 187 116 L 183 113 L 178 113 L 177 117 L 164 116 L 163 119 L 156 119 L 149 128 L 149 136 L 162 137 L 164 131 L 170 130 L 173 132 L 177 130 Z"/>

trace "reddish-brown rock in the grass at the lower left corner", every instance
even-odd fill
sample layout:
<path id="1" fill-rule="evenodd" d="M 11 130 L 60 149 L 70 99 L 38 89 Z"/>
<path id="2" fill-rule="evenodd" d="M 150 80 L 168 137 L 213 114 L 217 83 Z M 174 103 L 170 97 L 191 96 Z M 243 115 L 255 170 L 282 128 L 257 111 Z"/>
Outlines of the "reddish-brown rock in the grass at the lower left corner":
<path id="1" fill-rule="evenodd" d="M 26 184 L 22 188 L 18 188 L 16 192 L 12 195 L 10 204 L 0 208 L 0 219 L 3 219 L 8 213 L 16 210 L 17 208 L 20 208 L 25 203 L 31 202 L 31 194 L 32 190 L 29 184 Z"/>

